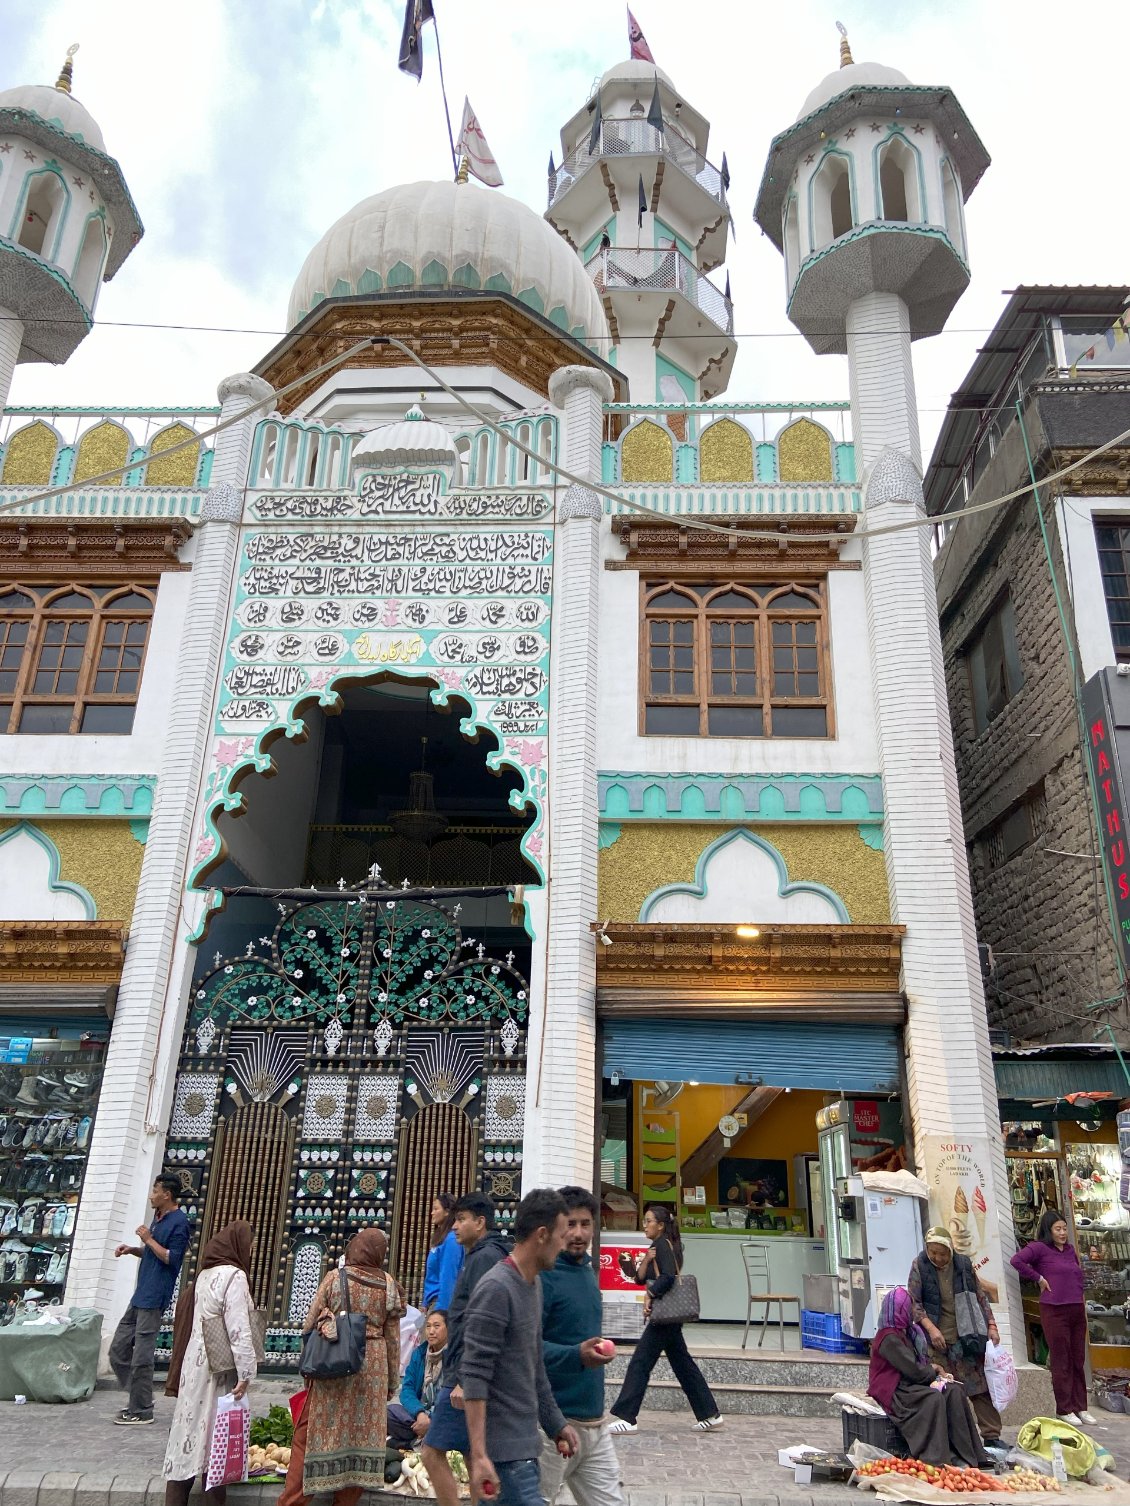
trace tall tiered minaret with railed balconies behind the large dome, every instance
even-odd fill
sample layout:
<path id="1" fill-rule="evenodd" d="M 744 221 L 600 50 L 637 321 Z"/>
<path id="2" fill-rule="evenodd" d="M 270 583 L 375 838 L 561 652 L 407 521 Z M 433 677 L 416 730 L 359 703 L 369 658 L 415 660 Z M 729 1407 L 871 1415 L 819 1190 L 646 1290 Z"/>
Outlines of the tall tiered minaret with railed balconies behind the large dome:
<path id="1" fill-rule="evenodd" d="M 612 360 L 636 402 L 707 401 L 734 364 L 726 258 L 729 173 L 710 122 L 654 63 L 610 68 L 560 133 L 545 218 L 600 289 Z"/>

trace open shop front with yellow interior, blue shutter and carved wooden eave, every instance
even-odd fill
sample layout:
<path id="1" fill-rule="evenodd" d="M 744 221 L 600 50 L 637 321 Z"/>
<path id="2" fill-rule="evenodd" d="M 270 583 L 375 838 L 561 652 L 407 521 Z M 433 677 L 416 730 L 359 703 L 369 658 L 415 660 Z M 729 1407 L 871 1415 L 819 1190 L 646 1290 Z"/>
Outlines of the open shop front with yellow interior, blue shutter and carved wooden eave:
<path id="1" fill-rule="evenodd" d="M 835 1187 L 818 1128 L 830 1105 L 841 1105 L 847 1126 L 847 1172 L 906 1164 L 898 929 L 851 928 L 866 935 L 850 946 L 829 929 L 762 928 L 756 938 L 710 926 L 604 929 L 597 1005 L 609 1331 L 639 1333 L 642 1298 L 621 1277 L 618 1254 L 646 1244 L 648 1206 L 664 1203 L 678 1217 L 702 1321 L 744 1324 L 750 1291 L 802 1303 L 806 1277 L 836 1270 L 827 1227 Z M 761 1315 L 755 1304 L 755 1321 Z M 796 1324 L 799 1307 L 785 1318 Z"/>

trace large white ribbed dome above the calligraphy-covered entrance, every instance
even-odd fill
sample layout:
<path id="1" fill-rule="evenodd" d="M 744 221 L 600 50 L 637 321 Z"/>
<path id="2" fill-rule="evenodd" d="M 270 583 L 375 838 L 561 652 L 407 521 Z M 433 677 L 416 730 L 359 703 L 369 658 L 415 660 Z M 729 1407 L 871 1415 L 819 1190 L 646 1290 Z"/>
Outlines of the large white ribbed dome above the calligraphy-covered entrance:
<path id="1" fill-rule="evenodd" d="M 452 288 L 506 292 L 582 340 L 609 339 L 580 258 L 497 188 L 416 182 L 363 199 L 306 258 L 288 325 L 322 298 Z"/>

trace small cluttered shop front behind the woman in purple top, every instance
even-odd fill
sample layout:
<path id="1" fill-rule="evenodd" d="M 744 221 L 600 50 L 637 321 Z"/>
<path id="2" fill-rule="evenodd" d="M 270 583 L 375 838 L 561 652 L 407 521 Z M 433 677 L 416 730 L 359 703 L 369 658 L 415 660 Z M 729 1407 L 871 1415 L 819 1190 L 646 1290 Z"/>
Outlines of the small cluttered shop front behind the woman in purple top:
<path id="1" fill-rule="evenodd" d="M 1091 1363 L 1130 1363 L 1130 1209 L 1121 1202 L 1119 1102 L 1130 1096 L 1118 1051 L 1082 1044 L 996 1050 L 1000 1131 L 1017 1244 L 1049 1209 L 1064 1214 L 1085 1274 Z M 1044 1363 L 1040 1297 L 1025 1286 L 1029 1358 Z"/>

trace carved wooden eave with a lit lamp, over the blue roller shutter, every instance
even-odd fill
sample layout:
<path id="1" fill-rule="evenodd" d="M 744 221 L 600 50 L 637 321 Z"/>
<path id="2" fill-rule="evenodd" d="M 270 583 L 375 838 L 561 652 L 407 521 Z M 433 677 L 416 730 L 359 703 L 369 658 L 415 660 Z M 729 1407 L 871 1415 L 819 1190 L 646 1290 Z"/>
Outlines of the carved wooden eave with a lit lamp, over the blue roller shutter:
<path id="1" fill-rule="evenodd" d="M 902 1024 L 906 926 L 592 926 L 601 1015 Z M 607 938 L 607 940 L 606 940 Z"/>

